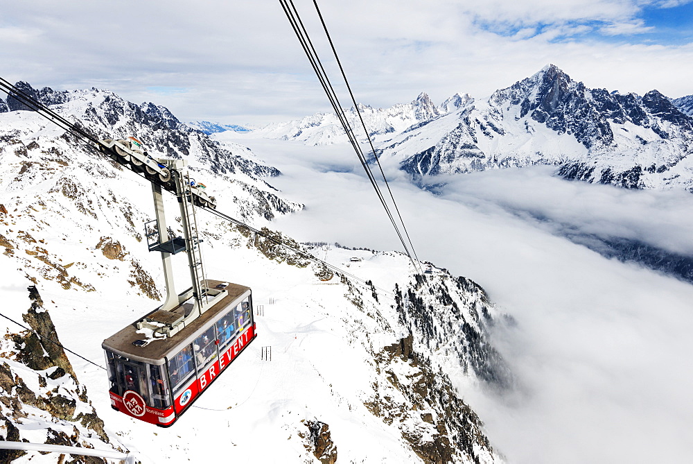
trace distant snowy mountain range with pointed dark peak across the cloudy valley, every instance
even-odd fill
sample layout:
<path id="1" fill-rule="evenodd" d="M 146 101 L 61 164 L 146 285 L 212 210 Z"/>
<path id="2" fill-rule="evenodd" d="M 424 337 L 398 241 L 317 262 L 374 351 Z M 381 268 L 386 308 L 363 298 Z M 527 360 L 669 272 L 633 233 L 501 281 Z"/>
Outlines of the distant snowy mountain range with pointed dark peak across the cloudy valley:
<path id="1" fill-rule="evenodd" d="M 693 189 L 693 96 L 671 100 L 589 89 L 554 65 L 487 98 L 455 94 L 436 106 L 359 105 L 381 162 L 426 176 L 551 164 L 564 178 L 626 188 Z M 352 108 L 347 117 L 358 125 Z M 334 114 L 255 130 L 321 145 L 346 141 Z M 425 182 L 423 182 L 425 183 Z"/>

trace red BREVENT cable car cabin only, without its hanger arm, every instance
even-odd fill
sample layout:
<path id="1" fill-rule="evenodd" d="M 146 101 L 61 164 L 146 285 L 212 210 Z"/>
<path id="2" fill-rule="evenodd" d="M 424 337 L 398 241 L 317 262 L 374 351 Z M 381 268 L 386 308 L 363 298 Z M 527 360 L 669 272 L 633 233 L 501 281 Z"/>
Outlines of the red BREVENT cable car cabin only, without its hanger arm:
<path id="1" fill-rule="evenodd" d="M 132 324 L 103 341 L 114 409 L 169 427 L 254 340 L 249 287 L 207 280 L 207 289 L 215 288 L 225 295 L 173 336 L 143 340 Z M 173 313 L 192 304 L 190 298 Z"/>

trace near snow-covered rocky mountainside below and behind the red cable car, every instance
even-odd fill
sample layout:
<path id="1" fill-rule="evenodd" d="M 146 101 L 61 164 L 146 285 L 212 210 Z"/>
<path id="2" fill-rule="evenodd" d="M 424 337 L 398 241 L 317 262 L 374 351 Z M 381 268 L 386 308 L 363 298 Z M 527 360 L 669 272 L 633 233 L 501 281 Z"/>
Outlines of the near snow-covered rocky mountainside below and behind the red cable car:
<path id="1" fill-rule="evenodd" d="M 23 89 L 100 137 L 133 135 L 151 152 L 186 157 L 220 211 L 257 227 L 302 207 L 265 181 L 279 171 L 241 146 L 220 147 L 166 108 L 96 89 Z M 165 292 L 158 253 L 148 253 L 142 237 L 153 216 L 150 185 L 13 98 L 3 108 L 0 312 L 102 364 L 100 342 Z M 97 366 L 6 320 L 3 439 L 120 448 L 145 463 L 502 461 L 459 390 L 513 382 L 489 343 L 488 328 L 502 316 L 480 286 L 435 266 L 416 275 L 398 252 L 305 248 L 362 278 L 335 274 L 200 216 L 208 275 L 252 286 L 264 306 L 258 341 L 231 366 L 234 373 L 220 376 L 174 427 L 152 430 L 110 409 Z M 273 348 L 272 361 L 261 359 L 260 345 Z M 6 462 L 19 458 L 3 453 Z M 21 459 L 40 457 L 57 459 L 37 452 Z"/>

